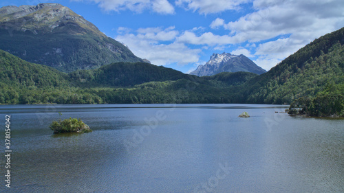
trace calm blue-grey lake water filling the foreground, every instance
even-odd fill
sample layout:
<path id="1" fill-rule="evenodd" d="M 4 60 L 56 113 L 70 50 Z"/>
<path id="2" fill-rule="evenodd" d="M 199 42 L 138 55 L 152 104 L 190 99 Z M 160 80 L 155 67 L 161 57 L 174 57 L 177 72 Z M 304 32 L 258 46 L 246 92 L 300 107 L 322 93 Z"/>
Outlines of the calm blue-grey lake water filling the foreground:
<path id="1" fill-rule="evenodd" d="M 344 192 L 344 120 L 260 104 L 0 106 L 6 192 Z M 249 118 L 240 118 L 247 111 Z M 53 135 L 81 118 L 92 133 Z"/>

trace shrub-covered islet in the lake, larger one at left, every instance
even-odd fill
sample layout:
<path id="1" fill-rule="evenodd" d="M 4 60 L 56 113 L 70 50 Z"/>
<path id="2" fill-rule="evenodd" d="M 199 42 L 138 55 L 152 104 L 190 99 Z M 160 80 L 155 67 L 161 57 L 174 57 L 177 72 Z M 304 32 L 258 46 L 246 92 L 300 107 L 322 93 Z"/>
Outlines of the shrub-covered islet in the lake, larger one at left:
<path id="1" fill-rule="evenodd" d="M 89 133 L 92 131 L 87 124 L 76 118 L 54 121 L 50 124 L 50 128 L 54 130 L 54 133 Z"/>

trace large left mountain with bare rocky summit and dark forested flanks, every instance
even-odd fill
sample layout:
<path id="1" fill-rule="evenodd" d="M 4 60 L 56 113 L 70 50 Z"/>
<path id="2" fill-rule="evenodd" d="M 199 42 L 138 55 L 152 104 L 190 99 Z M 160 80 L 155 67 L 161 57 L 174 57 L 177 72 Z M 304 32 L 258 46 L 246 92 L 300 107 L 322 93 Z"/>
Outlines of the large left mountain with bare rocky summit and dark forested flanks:
<path id="1" fill-rule="evenodd" d="M 58 3 L 0 8 L 0 49 L 64 72 L 143 61 Z"/>

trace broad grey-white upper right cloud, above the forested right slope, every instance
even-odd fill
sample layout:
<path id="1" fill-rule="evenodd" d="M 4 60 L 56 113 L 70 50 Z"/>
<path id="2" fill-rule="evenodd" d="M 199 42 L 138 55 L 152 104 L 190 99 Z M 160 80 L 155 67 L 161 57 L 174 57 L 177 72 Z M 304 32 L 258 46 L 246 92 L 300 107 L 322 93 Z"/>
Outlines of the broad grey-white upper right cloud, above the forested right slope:
<path id="1" fill-rule="evenodd" d="M 257 1 L 255 1 L 257 2 Z M 303 34 L 312 32 L 309 39 L 332 32 L 335 26 L 344 24 L 343 3 L 340 1 L 276 1 L 277 3 L 254 3 L 256 12 L 242 16 L 237 21 L 224 24 L 227 30 L 244 41 L 262 41 L 281 34 Z M 274 1 L 275 2 L 275 1 Z M 324 8 L 341 12 L 324 14 Z M 331 8 L 330 8 L 331 10 Z M 326 11 L 325 11 L 326 12 Z M 305 38 L 307 36 L 302 36 Z"/>

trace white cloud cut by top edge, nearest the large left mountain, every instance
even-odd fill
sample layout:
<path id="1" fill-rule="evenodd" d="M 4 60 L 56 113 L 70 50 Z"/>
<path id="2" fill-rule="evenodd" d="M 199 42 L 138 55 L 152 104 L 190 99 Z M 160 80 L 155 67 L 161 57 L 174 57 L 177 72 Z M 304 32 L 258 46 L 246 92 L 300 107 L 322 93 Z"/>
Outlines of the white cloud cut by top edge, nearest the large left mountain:
<path id="1" fill-rule="evenodd" d="M 72 0 L 83 1 L 83 0 Z M 174 14 L 175 9 L 167 0 L 88 0 L 97 3 L 106 12 L 120 12 L 131 10 L 141 13 L 144 10 L 153 10 L 159 14 Z"/>

